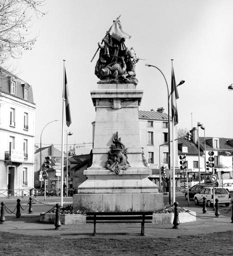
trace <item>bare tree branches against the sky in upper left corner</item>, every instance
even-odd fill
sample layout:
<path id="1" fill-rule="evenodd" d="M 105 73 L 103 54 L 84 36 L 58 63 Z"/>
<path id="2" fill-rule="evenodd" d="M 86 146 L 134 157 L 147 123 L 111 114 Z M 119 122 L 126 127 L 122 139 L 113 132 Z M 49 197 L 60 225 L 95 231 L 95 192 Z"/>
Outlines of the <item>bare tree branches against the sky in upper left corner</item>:
<path id="1" fill-rule="evenodd" d="M 45 14 L 42 5 L 44 0 L 0 0 L 0 63 L 32 48 L 36 38 L 30 37 L 31 18 Z"/>

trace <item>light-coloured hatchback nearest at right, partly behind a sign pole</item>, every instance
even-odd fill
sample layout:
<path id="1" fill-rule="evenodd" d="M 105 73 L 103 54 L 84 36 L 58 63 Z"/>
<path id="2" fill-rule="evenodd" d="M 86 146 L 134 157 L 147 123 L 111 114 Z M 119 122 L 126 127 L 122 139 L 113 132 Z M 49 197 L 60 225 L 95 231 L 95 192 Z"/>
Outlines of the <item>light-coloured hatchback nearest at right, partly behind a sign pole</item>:
<path id="1" fill-rule="evenodd" d="M 225 206 L 229 206 L 230 204 L 230 194 L 223 187 L 217 187 L 214 189 L 215 199 L 218 199 L 218 203 L 224 203 Z M 199 203 L 203 203 L 203 197 L 206 198 L 206 203 L 209 207 L 213 206 L 213 188 L 212 187 L 204 187 L 200 190 L 199 193 L 194 195 L 194 203 L 198 205 Z"/>

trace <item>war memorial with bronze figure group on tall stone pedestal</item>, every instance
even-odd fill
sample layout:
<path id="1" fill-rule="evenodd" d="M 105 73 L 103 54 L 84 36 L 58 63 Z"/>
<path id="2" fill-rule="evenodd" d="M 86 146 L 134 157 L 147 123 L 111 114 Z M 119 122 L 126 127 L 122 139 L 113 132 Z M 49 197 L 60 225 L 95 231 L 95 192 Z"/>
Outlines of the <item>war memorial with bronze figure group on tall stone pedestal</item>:
<path id="1" fill-rule="evenodd" d="M 147 177 L 138 123 L 143 91 L 137 89 L 135 65 L 139 58 L 125 45 L 130 36 L 119 17 L 98 43 L 95 75 L 90 92 L 96 111 L 92 165 L 73 195 L 74 209 L 85 211 L 144 211 L 163 207 L 162 193 Z M 96 51 L 97 52 L 97 51 Z"/>

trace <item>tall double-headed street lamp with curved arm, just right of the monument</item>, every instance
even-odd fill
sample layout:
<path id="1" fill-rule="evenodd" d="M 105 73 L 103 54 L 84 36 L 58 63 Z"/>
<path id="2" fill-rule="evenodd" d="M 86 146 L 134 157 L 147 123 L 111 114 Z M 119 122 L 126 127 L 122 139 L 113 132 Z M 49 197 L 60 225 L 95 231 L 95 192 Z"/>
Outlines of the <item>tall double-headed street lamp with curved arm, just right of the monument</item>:
<path id="1" fill-rule="evenodd" d="M 166 89 L 167 89 L 167 114 L 168 114 L 168 169 L 169 169 L 169 172 L 170 172 L 170 178 L 169 178 L 169 204 L 171 204 L 171 170 L 170 170 L 170 92 L 169 92 L 169 89 L 168 89 L 168 84 L 167 84 L 167 81 L 166 81 L 166 77 L 165 75 L 163 74 L 163 72 L 157 67 L 157 66 L 154 66 L 154 65 L 150 65 L 150 64 L 145 64 L 145 66 L 152 66 L 152 67 L 155 67 L 163 76 L 164 80 L 165 80 L 165 83 L 166 83 Z M 184 80 L 181 80 L 177 86 L 181 85 L 182 83 L 184 83 Z M 160 164 L 160 162 L 159 162 Z M 159 176 L 161 176 L 161 169 L 159 168 Z M 173 177 L 174 179 L 175 177 Z"/>

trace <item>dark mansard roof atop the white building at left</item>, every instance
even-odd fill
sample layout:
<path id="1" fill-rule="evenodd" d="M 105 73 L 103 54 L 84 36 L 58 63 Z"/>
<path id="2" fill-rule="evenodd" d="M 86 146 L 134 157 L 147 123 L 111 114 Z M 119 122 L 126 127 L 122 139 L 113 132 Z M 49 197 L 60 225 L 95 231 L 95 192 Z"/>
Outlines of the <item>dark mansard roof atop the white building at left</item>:
<path id="1" fill-rule="evenodd" d="M 10 93 L 10 79 L 14 79 L 16 82 L 16 92 L 15 95 Z M 27 99 L 24 99 L 24 86 L 27 88 Z M 0 67 L 0 91 L 9 94 L 13 97 L 20 98 L 26 102 L 34 104 L 32 87 L 27 82 L 18 78 L 16 75 L 10 73 L 3 67 Z"/>

